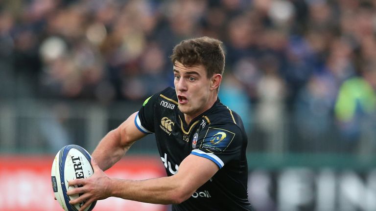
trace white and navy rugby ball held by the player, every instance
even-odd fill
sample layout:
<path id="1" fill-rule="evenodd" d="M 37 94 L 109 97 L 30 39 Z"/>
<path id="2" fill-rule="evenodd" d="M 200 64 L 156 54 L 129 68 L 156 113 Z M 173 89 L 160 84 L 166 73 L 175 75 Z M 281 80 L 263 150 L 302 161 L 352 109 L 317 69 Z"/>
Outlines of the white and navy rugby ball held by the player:
<path id="1" fill-rule="evenodd" d="M 77 203 L 71 205 L 69 201 L 76 199 L 79 194 L 67 195 L 67 191 L 78 186 L 68 186 L 68 182 L 73 179 L 88 178 L 94 174 L 90 163 L 90 154 L 78 145 L 67 145 L 61 148 L 53 160 L 51 169 L 51 182 L 53 193 L 56 200 L 65 211 L 78 211 L 85 204 Z M 93 202 L 85 211 L 93 210 L 96 201 Z"/>

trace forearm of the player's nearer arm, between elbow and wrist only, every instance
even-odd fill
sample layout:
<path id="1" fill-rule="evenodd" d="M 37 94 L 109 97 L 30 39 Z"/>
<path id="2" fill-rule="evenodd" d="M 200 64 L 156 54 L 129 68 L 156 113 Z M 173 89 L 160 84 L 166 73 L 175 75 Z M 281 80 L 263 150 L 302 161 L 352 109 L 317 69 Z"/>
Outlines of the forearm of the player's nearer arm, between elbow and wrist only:
<path id="1" fill-rule="evenodd" d="M 179 204 L 194 192 L 185 188 L 174 176 L 149 180 L 112 179 L 113 196 L 153 204 Z"/>

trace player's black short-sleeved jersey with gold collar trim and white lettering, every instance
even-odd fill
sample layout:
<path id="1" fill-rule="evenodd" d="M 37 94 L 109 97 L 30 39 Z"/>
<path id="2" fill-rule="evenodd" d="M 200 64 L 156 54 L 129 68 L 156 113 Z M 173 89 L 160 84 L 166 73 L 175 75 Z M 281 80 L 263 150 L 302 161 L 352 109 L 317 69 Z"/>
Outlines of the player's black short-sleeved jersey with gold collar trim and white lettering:
<path id="1" fill-rule="evenodd" d="M 171 87 L 148 98 L 135 118 L 136 126 L 144 133 L 155 133 L 168 176 L 178 172 L 189 154 L 210 159 L 219 170 L 188 200 L 172 205 L 173 211 L 251 211 L 247 136 L 240 117 L 217 100 L 187 125 L 177 101 Z"/>

